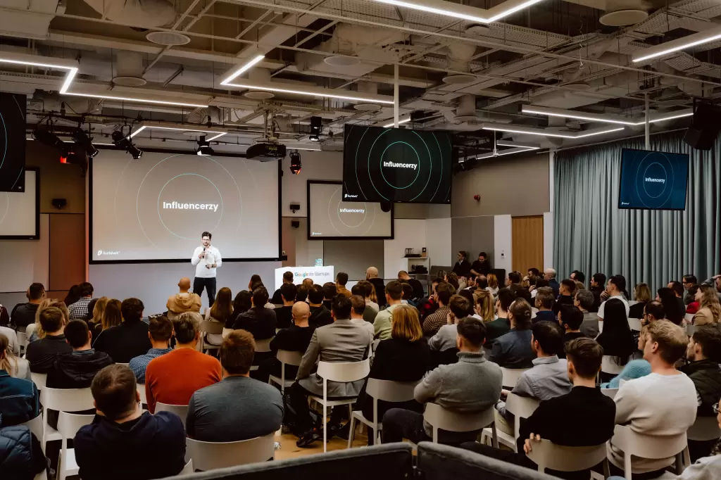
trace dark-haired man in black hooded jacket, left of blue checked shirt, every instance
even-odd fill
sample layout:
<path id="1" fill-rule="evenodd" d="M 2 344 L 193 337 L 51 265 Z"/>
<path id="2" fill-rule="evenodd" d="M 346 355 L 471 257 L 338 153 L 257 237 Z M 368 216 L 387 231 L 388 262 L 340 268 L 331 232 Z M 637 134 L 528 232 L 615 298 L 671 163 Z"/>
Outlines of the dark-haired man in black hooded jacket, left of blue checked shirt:
<path id="1" fill-rule="evenodd" d="M 92 335 L 84 320 L 71 320 L 65 326 L 65 340 L 73 349 L 72 352 L 58 355 L 53 368 L 48 371 L 45 385 L 48 388 L 89 388 L 96 373 L 113 361 L 105 352 L 98 352 L 90 347 Z M 94 414 L 88 412 L 73 412 L 76 414 Z M 48 424 L 57 428 L 58 412 L 48 410 Z"/>

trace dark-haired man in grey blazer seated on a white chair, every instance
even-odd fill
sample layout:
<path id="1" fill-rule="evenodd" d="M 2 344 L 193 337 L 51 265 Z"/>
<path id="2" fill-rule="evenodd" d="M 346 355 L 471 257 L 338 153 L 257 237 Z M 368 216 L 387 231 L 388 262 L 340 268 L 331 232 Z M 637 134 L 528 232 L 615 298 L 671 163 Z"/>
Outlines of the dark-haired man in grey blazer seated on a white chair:
<path id="1" fill-rule="evenodd" d="M 296 383 L 290 389 L 290 406 L 294 413 L 293 433 L 299 438 L 296 445 L 307 447 L 321 440 L 323 432 L 313 426 L 308 408 L 308 396 L 323 396 L 323 379 L 317 373 L 311 373 L 316 360 L 329 363 L 360 362 L 368 355 L 368 346 L 373 342 L 373 334 L 365 326 L 350 320 L 352 305 L 350 298 L 338 295 L 332 301 L 333 323 L 315 330 L 301 365 L 298 366 Z M 365 379 L 355 382 L 328 382 L 329 399 L 347 399 L 358 396 Z M 342 409 L 332 411 L 328 430 L 340 425 Z M 331 435 L 328 435 L 331 437 Z"/>

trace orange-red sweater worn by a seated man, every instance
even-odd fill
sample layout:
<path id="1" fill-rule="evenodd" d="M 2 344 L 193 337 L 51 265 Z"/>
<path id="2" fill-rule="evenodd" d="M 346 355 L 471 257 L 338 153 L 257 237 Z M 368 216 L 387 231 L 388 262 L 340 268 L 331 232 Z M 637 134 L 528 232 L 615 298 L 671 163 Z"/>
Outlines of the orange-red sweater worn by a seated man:
<path id="1" fill-rule="evenodd" d="M 145 371 L 148 409 L 155 413 L 156 402 L 187 405 L 196 390 L 221 381 L 221 363 L 210 355 L 190 348 L 176 348 L 154 358 Z"/>

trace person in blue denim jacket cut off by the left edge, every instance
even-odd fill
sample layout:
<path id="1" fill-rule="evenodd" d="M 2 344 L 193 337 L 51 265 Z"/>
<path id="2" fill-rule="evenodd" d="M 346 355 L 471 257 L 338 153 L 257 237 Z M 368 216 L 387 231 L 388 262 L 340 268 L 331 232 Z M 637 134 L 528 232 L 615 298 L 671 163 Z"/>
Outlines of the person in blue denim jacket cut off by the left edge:
<path id="1" fill-rule="evenodd" d="M 30 379 L 12 375 L 17 359 L 7 347 L 7 337 L 0 334 L 0 427 L 19 425 L 40 414 L 37 387 Z"/>

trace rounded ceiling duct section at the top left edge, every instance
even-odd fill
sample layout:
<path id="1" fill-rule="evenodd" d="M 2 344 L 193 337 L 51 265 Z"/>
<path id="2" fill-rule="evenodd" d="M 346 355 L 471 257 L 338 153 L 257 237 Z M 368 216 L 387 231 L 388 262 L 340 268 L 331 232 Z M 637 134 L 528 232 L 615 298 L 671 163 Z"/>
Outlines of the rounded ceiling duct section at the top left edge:
<path id="1" fill-rule="evenodd" d="M 167 0 L 85 0 L 103 18 L 136 28 L 170 25 L 175 20 L 173 4 Z"/>

